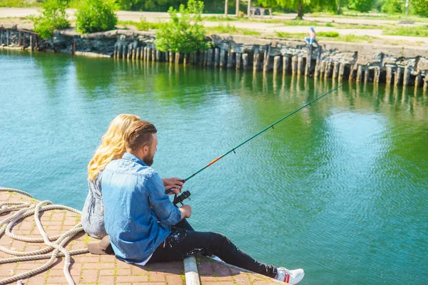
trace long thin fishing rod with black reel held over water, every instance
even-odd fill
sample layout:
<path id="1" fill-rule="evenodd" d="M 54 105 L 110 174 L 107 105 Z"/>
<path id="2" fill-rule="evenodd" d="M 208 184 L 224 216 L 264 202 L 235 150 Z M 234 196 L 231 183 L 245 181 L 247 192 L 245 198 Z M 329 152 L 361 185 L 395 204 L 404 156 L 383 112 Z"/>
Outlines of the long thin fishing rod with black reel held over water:
<path id="1" fill-rule="evenodd" d="M 266 128 L 264 128 L 263 130 L 260 130 L 260 132 L 256 133 L 255 135 L 253 135 L 251 138 L 248 138 L 247 140 L 241 142 L 239 145 L 233 147 L 231 150 L 228 150 L 227 152 L 225 152 L 225 154 L 220 155 L 219 157 L 215 158 L 215 160 L 211 161 L 210 163 L 208 163 L 208 165 L 205 165 L 204 167 L 200 168 L 200 170 L 194 172 L 192 175 L 190 175 L 189 177 L 186 177 L 185 179 L 181 180 L 183 183 L 187 182 L 188 180 L 190 180 L 190 178 L 194 177 L 195 175 L 197 175 L 198 173 L 202 172 L 203 170 L 205 170 L 205 168 L 209 167 L 210 165 L 213 165 L 215 162 L 218 162 L 218 160 L 221 160 L 223 157 L 225 157 L 226 155 L 228 155 L 230 152 L 235 152 L 235 150 L 238 149 L 238 147 L 241 147 L 242 145 L 245 145 L 245 143 L 249 142 L 250 140 L 253 140 L 253 138 L 257 137 L 258 135 L 261 135 L 262 133 L 265 133 L 265 131 L 269 130 L 270 128 L 273 129 L 273 126 L 276 125 L 277 123 L 281 123 L 283 120 L 285 120 L 286 118 L 289 118 L 291 115 L 294 115 L 295 113 L 299 112 L 300 110 L 306 108 L 307 106 L 310 106 L 312 103 L 317 102 L 317 100 L 320 100 L 321 98 L 325 97 L 326 95 L 332 93 L 333 91 L 341 88 L 341 86 L 337 86 L 336 88 L 328 91 L 327 93 L 321 95 L 318 98 L 315 98 L 314 100 L 310 101 L 309 103 L 306 103 L 305 105 L 302 105 L 302 107 L 298 108 L 297 110 L 292 111 L 290 114 L 286 115 L 283 118 L 280 118 L 280 120 L 277 120 L 275 123 L 267 126 Z M 190 196 L 190 192 L 189 191 L 185 191 L 183 192 L 183 194 L 181 194 L 180 196 L 176 196 L 174 199 L 174 204 L 177 203 L 181 203 L 183 204 L 183 199 L 186 199 Z"/>

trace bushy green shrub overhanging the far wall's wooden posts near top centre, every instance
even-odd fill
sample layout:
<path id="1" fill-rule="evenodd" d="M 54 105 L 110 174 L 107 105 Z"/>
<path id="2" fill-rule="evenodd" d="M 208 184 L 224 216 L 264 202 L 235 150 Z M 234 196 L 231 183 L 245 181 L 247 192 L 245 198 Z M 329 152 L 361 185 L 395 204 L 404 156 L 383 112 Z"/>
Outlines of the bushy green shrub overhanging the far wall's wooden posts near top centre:
<path id="1" fill-rule="evenodd" d="M 195 0 L 189 0 L 187 8 L 181 4 L 179 11 L 170 7 L 170 22 L 156 32 L 156 48 L 180 53 L 209 48 L 210 44 L 205 42 L 205 29 L 200 24 L 202 11 L 203 2 Z"/>

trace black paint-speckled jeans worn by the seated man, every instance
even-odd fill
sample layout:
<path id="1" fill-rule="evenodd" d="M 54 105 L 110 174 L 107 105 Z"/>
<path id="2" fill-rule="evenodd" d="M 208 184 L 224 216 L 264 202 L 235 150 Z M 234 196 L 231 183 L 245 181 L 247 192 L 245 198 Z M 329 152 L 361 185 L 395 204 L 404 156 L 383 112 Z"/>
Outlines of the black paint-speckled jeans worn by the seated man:
<path id="1" fill-rule="evenodd" d="M 215 254 L 228 264 L 272 278 L 277 275 L 275 266 L 253 259 L 223 234 L 188 231 L 178 227 L 171 227 L 171 233 L 148 262 L 177 261 L 196 254 Z"/>

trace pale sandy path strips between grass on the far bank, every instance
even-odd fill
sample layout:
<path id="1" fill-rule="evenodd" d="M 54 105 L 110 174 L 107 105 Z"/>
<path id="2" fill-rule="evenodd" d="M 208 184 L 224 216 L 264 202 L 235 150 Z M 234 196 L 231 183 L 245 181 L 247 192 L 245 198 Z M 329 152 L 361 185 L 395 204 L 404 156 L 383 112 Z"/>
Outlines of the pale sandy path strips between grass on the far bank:
<path id="1" fill-rule="evenodd" d="M 15 22 L 23 21 L 14 19 L 17 17 L 26 17 L 31 14 L 38 14 L 39 9 L 35 8 L 0 8 L 0 22 Z M 67 14 L 70 19 L 73 19 L 73 15 L 76 10 L 68 9 Z M 168 21 L 168 13 L 161 12 L 133 12 L 133 11 L 118 11 L 118 19 L 121 21 L 140 21 L 141 17 L 146 18 L 146 21 L 157 22 L 157 21 Z M 218 14 L 204 14 L 203 16 L 219 16 Z M 294 19 L 296 14 L 284 14 L 280 16 L 273 16 L 275 20 L 290 20 Z M 269 19 L 265 17 L 265 19 Z M 398 21 L 389 20 L 377 20 L 377 19 L 349 19 L 349 18 L 333 18 L 333 17 L 304 17 L 307 21 L 320 21 L 320 22 L 335 22 L 342 24 L 363 24 L 363 25 L 390 25 L 397 24 Z M 205 26 L 218 26 L 220 24 L 235 26 L 236 28 L 248 28 L 253 31 L 259 31 L 265 35 L 275 34 L 276 31 L 287 32 L 287 33 L 307 33 L 307 26 L 284 26 L 280 23 L 270 24 L 263 22 L 247 22 L 247 21 L 206 21 Z M 427 23 L 415 23 L 414 25 L 428 25 Z M 381 29 L 360 29 L 357 28 L 332 28 L 326 26 L 316 26 L 316 31 L 337 31 L 340 35 L 354 34 L 357 36 L 374 36 L 382 38 L 384 41 L 394 41 L 396 43 L 405 43 L 407 45 L 414 44 L 415 46 L 428 46 L 428 38 L 426 37 L 414 37 L 414 36 L 385 36 L 382 35 Z"/>

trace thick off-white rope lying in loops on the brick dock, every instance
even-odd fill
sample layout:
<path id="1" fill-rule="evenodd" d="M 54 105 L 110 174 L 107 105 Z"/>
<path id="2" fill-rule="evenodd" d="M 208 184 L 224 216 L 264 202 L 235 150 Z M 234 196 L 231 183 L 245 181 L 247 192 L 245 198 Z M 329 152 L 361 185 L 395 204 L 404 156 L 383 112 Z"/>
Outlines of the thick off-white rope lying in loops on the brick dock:
<path id="1" fill-rule="evenodd" d="M 0 192 L 16 192 L 21 195 L 25 195 L 33 198 L 29 193 L 24 192 L 22 190 L 12 189 L 12 188 L 2 188 L 0 187 Z M 6 252 L 7 254 L 14 255 L 15 257 L 9 257 L 6 259 L 0 259 L 0 264 L 6 264 L 17 261 L 31 261 L 36 259 L 49 259 L 46 264 L 37 267 L 36 269 L 32 269 L 30 271 L 24 272 L 22 274 L 17 274 L 11 276 L 6 279 L 0 280 L 0 285 L 9 284 L 14 281 L 19 281 L 21 279 L 25 279 L 29 276 L 33 276 L 39 274 L 41 271 L 49 269 L 49 267 L 54 264 L 54 261 L 57 257 L 66 257 L 65 263 L 63 266 L 63 273 L 66 276 L 69 285 L 74 285 L 73 278 L 71 277 L 69 267 L 70 267 L 70 259 L 71 255 L 76 254 L 86 254 L 88 253 L 88 249 L 75 249 L 71 251 L 67 251 L 64 248 L 64 245 L 72 239 L 76 234 L 83 231 L 83 227 L 81 223 L 76 224 L 72 229 L 68 230 L 63 234 L 58 234 L 54 237 L 49 237 L 44 230 L 43 225 L 41 224 L 39 214 L 40 212 L 49 211 L 52 209 L 65 209 L 70 212 L 74 212 L 76 214 L 81 214 L 77 209 L 73 209 L 71 207 L 66 207 L 63 205 L 55 205 L 50 201 L 42 201 L 38 204 L 34 204 L 31 202 L 0 202 L 0 214 L 4 212 L 12 212 L 18 211 L 12 214 L 10 217 L 3 219 L 0 221 L 0 237 L 3 234 L 8 235 L 12 239 L 20 240 L 22 242 L 44 242 L 47 247 L 44 249 L 39 249 L 33 252 L 18 252 L 6 247 L 1 247 L 0 250 L 2 252 Z M 42 238 L 31 238 L 31 237 L 23 237 L 17 234 L 14 234 L 11 229 L 16 225 L 20 219 L 24 220 L 26 217 L 30 217 L 34 215 L 34 220 L 36 221 L 37 228 L 41 233 Z M 55 242 L 53 242 L 55 241 Z M 53 250 L 53 252 L 52 252 Z M 52 252 L 51 254 L 48 254 Z"/>

